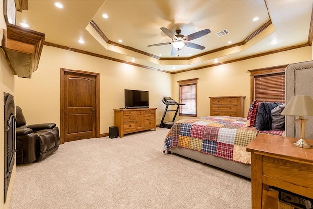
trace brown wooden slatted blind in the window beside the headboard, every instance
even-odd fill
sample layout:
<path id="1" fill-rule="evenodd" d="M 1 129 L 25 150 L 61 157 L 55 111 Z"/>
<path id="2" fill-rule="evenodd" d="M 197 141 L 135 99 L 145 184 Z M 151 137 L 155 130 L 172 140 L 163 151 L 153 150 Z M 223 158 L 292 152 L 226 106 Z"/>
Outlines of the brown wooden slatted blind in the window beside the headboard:
<path id="1" fill-rule="evenodd" d="M 259 102 L 285 103 L 285 74 L 254 76 L 254 99 Z"/>

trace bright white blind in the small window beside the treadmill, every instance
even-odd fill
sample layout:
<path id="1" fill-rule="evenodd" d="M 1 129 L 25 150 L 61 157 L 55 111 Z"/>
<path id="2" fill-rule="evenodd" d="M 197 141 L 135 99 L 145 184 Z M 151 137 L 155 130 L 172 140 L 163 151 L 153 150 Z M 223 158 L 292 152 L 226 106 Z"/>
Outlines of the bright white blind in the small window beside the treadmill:
<path id="1" fill-rule="evenodd" d="M 196 84 L 180 85 L 180 114 L 196 115 Z"/>

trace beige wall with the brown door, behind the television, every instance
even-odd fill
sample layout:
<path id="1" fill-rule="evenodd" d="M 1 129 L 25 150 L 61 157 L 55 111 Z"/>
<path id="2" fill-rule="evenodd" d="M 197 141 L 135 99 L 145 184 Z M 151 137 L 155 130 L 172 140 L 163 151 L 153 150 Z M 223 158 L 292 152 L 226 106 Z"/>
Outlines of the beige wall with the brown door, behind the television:
<path id="1" fill-rule="evenodd" d="M 100 134 L 114 125 L 113 109 L 124 107 L 124 89 L 149 91 L 149 106 L 157 108 L 160 123 L 161 100 L 171 94 L 171 74 L 44 46 L 32 78 L 16 81 L 16 105 L 27 124 L 54 122 L 60 127 L 60 68 L 100 73 Z"/>

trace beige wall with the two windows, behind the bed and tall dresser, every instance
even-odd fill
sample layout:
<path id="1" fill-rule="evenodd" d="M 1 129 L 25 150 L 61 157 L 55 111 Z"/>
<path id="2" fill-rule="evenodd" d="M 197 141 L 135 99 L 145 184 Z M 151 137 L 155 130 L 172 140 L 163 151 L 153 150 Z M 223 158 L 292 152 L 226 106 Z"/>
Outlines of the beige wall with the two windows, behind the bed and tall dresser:
<path id="1" fill-rule="evenodd" d="M 179 80 L 199 78 L 198 116 L 210 115 L 210 96 L 246 96 L 245 117 L 250 107 L 250 72 L 248 70 L 279 66 L 311 60 L 311 46 L 239 62 L 219 65 L 201 70 L 188 71 L 173 75 L 172 98 L 178 101 Z M 176 120 L 182 117 L 177 117 Z"/>

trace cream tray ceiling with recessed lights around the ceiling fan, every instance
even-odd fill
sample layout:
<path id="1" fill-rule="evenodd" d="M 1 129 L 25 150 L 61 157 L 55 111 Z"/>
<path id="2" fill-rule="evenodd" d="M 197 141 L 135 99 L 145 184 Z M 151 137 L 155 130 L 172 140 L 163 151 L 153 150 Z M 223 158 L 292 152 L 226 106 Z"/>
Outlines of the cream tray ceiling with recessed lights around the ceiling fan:
<path id="1" fill-rule="evenodd" d="M 178 72 L 311 44 L 311 13 L 312 0 L 28 0 L 28 10 L 17 12 L 17 25 L 28 23 L 45 33 L 48 45 Z M 171 45 L 147 47 L 171 41 L 161 27 L 181 29 L 185 36 L 203 29 L 211 33 L 190 41 L 204 50 L 183 47 L 171 56 Z M 230 33 L 215 34 L 224 29 Z"/>

